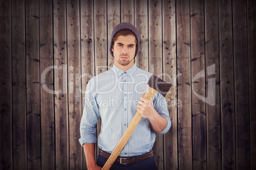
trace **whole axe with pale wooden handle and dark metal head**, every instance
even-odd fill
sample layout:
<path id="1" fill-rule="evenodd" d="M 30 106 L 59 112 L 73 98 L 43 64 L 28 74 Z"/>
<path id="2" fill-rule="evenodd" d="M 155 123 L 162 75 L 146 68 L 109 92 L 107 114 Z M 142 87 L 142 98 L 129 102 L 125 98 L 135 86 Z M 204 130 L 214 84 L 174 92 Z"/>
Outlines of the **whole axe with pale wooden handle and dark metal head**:
<path id="1" fill-rule="evenodd" d="M 149 85 L 149 87 L 146 90 L 146 93 L 144 95 L 144 98 L 146 98 L 148 100 L 152 100 L 153 96 L 155 96 L 155 93 L 157 93 L 157 91 L 161 95 L 163 95 L 166 98 L 166 100 L 170 100 L 171 98 L 173 98 L 173 96 L 176 93 L 176 87 L 175 86 L 173 86 L 172 84 L 170 84 L 168 82 L 162 81 L 161 79 L 159 79 L 155 75 L 152 75 L 150 77 L 150 79 L 148 80 L 148 85 Z M 104 164 L 103 170 L 104 169 L 110 169 L 110 167 L 113 165 L 113 163 L 117 159 L 118 155 L 120 154 L 120 152 L 124 148 L 125 144 L 127 143 L 129 138 L 131 137 L 134 129 L 139 124 L 140 120 L 141 120 L 141 114 L 139 114 L 139 112 L 137 112 L 134 115 L 134 117 L 133 117 L 131 123 L 129 124 L 128 128 L 126 129 L 125 133 L 123 134 L 122 138 L 117 143 L 117 147 L 115 147 L 112 154 L 108 158 L 106 164 Z"/>

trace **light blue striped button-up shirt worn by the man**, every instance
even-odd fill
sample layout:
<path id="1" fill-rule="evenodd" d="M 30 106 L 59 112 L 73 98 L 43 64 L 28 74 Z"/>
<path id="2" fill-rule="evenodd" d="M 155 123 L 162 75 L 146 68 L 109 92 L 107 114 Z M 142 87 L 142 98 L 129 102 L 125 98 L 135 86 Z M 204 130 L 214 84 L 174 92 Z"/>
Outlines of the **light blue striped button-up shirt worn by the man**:
<path id="1" fill-rule="evenodd" d="M 90 79 L 85 92 L 85 107 L 80 124 L 80 143 L 96 143 L 105 152 L 112 153 L 118 141 L 136 114 L 142 92 L 148 88 L 152 74 L 134 64 L 129 70 L 113 68 Z M 167 125 L 160 133 L 171 127 L 166 99 L 156 93 L 153 107 L 166 117 Z M 101 117 L 101 133 L 96 138 L 96 124 Z M 131 138 L 120 153 L 121 157 L 132 157 L 150 152 L 155 142 L 155 131 L 150 121 L 142 117 Z"/>

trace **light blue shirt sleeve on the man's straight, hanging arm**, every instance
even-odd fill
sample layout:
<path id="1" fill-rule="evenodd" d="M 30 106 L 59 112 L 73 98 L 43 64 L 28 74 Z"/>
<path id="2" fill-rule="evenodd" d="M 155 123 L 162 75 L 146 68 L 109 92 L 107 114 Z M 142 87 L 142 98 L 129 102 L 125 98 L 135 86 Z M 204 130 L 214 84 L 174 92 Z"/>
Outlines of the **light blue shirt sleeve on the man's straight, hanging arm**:
<path id="1" fill-rule="evenodd" d="M 85 92 L 85 107 L 83 108 L 82 120 L 80 122 L 80 136 L 79 142 L 96 143 L 96 124 L 99 120 L 98 105 L 95 100 L 94 81 L 91 79 L 87 84 Z"/>

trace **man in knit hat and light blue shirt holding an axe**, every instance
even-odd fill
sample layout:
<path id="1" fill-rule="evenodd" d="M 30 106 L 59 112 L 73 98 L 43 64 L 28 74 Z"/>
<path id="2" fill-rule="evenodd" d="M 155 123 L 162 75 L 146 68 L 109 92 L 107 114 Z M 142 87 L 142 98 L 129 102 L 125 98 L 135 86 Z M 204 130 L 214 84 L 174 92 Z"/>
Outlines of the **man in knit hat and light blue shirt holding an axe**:
<path id="1" fill-rule="evenodd" d="M 166 133 L 171 120 L 165 98 L 157 92 L 153 100 L 143 98 L 152 74 L 134 64 L 139 32 L 130 23 L 118 24 L 111 34 L 113 68 L 90 79 L 80 124 L 80 143 L 88 169 L 101 169 L 138 111 L 142 119 L 111 169 L 157 169 L 152 147 L 155 132 Z M 101 133 L 96 124 L 101 117 Z M 94 159 L 95 143 L 100 148 Z"/>

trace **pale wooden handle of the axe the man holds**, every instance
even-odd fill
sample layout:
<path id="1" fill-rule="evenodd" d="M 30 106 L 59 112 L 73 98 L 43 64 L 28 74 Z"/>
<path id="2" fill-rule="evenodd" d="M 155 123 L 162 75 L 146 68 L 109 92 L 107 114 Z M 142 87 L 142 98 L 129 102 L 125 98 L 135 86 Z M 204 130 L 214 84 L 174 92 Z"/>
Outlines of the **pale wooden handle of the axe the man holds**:
<path id="1" fill-rule="evenodd" d="M 148 87 L 148 89 L 146 90 L 146 93 L 144 95 L 144 98 L 146 98 L 148 100 L 152 100 L 153 96 L 155 96 L 155 93 L 157 93 L 157 91 L 155 89 Z M 115 147 L 115 150 L 112 152 L 112 154 L 108 158 L 106 164 L 104 164 L 103 170 L 104 169 L 110 169 L 110 167 L 113 165 L 113 163 L 117 159 L 118 155 L 120 154 L 120 152 L 124 148 L 125 144 L 127 143 L 129 138 L 131 137 L 134 129 L 139 124 L 140 120 L 141 120 L 141 114 L 139 114 L 139 112 L 137 112 L 134 115 L 134 117 L 133 117 L 131 123 L 129 124 L 128 128 L 126 129 L 124 135 L 122 136 L 120 141 L 117 143 L 117 147 Z"/>

